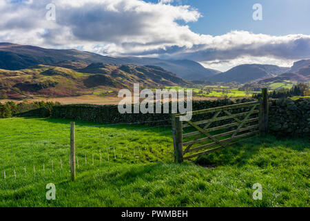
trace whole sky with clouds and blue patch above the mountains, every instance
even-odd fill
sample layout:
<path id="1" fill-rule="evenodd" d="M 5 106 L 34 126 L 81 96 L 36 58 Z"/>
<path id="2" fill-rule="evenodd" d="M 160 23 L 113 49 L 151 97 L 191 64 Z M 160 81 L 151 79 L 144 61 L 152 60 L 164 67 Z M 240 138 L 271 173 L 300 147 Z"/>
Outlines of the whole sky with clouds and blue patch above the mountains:
<path id="1" fill-rule="evenodd" d="M 3 42 L 221 71 L 310 59 L 309 21 L 309 0 L 0 0 Z"/>

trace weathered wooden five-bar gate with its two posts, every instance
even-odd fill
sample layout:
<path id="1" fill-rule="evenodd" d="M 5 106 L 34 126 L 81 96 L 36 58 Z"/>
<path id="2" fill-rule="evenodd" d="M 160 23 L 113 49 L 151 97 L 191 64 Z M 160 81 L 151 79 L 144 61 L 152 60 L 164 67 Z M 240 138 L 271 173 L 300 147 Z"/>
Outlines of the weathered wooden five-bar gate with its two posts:
<path id="1" fill-rule="evenodd" d="M 238 113 L 233 114 L 231 111 Z M 181 122 L 180 116 L 184 114 L 172 116 L 175 162 L 183 162 L 183 160 L 211 153 L 226 148 L 227 146 L 231 146 L 232 144 L 242 142 L 254 135 L 258 135 L 259 133 L 267 133 L 267 88 L 262 90 L 262 100 L 260 102 L 234 104 L 230 106 L 220 106 L 218 108 L 193 111 L 192 115 L 194 117 L 195 115 L 210 113 L 213 113 L 213 117 L 197 122 Z M 240 119 L 240 117 L 242 117 L 242 119 Z M 212 123 L 228 119 L 231 119 L 232 122 L 210 128 Z M 183 133 L 183 128 L 192 128 L 194 131 Z M 230 128 L 235 129 L 230 130 Z M 186 141 L 183 142 L 183 139 Z M 196 146 L 197 144 L 200 146 Z"/>

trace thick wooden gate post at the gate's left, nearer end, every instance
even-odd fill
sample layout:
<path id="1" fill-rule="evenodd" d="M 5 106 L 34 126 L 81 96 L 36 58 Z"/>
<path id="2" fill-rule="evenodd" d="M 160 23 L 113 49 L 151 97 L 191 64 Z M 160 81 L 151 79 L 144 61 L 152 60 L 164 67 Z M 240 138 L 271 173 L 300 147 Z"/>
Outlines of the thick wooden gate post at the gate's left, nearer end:
<path id="1" fill-rule="evenodd" d="M 180 117 L 172 115 L 172 128 L 174 137 L 174 162 L 183 162 L 183 125 Z"/>

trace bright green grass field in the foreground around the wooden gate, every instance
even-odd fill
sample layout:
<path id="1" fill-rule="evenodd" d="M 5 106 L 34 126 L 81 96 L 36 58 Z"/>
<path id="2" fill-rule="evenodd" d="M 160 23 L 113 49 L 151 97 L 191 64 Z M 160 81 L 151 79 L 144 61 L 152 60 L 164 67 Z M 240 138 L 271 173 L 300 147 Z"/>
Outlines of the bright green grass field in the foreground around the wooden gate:
<path id="1" fill-rule="evenodd" d="M 0 206 L 310 205 L 309 140 L 257 137 L 174 164 L 169 127 L 76 122 L 79 166 L 70 182 L 69 122 L 0 119 Z M 56 200 L 45 199 L 48 183 Z M 255 183 L 262 200 L 252 198 Z"/>

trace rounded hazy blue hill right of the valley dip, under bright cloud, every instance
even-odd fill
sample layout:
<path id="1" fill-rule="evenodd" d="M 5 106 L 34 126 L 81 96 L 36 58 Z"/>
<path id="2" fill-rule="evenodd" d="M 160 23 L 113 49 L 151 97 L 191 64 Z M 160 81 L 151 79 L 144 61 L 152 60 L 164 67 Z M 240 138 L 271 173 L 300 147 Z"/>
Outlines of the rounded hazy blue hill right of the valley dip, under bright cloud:
<path id="1" fill-rule="evenodd" d="M 274 65 L 242 64 L 227 70 L 225 73 L 207 77 L 207 80 L 226 83 L 236 81 L 243 84 L 251 81 L 258 81 L 260 79 L 275 77 L 286 73 L 288 70 L 289 68 L 282 68 Z"/>

